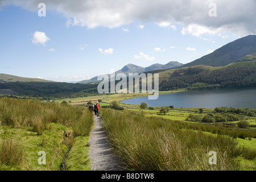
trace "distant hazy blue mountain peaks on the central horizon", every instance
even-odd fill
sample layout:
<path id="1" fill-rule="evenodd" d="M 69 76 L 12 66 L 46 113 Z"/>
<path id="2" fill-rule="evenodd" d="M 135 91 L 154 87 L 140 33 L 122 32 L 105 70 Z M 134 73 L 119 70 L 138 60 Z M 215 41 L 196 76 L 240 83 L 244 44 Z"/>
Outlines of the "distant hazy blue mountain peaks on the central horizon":
<path id="1" fill-rule="evenodd" d="M 171 61 L 167 64 L 152 64 L 149 67 L 139 67 L 135 64 L 127 64 L 122 69 L 115 72 L 115 75 L 119 73 L 124 73 L 125 75 L 128 75 L 129 73 L 143 73 L 143 72 L 149 72 L 149 71 L 157 71 L 157 70 L 167 70 L 167 69 L 174 69 L 174 68 L 181 68 L 183 64 L 177 62 L 177 61 Z M 78 82 L 79 84 L 89 84 L 92 82 L 98 82 L 97 76 L 91 78 L 90 80 L 84 80 Z"/>

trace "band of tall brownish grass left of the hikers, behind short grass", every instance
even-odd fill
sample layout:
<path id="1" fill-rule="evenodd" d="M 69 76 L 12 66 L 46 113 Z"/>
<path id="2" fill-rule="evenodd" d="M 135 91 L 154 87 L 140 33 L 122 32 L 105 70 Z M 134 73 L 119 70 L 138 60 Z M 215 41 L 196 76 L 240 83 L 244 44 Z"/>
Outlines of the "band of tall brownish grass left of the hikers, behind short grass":
<path id="1" fill-rule="evenodd" d="M 48 129 L 49 123 L 72 127 L 76 136 L 84 136 L 89 134 L 93 119 L 92 114 L 84 107 L 0 98 L 1 125 L 32 127 L 32 131 L 40 135 Z"/>

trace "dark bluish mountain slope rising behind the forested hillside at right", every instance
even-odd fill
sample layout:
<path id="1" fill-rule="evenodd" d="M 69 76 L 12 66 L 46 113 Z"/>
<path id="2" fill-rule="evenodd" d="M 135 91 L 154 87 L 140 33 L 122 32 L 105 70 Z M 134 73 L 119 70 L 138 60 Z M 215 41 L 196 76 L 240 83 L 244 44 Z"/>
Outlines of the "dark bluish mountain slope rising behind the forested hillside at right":
<path id="1" fill-rule="evenodd" d="M 183 65 L 183 67 L 192 67 L 195 65 L 209 65 L 212 67 L 222 67 L 241 59 L 246 55 L 256 52 L 256 35 L 248 35 L 237 39 L 234 42 L 218 48 L 209 55 Z"/>

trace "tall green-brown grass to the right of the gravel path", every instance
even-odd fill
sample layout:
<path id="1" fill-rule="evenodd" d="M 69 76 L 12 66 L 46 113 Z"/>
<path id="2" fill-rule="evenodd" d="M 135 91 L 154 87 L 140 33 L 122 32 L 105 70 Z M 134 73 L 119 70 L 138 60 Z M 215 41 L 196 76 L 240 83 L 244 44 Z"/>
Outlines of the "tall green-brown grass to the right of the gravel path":
<path id="1" fill-rule="evenodd" d="M 102 125 L 115 152 L 135 170 L 238 170 L 237 143 L 230 137 L 180 129 L 181 122 L 104 110 Z M 210 165 L 209 152 L 217 152 Z"/>

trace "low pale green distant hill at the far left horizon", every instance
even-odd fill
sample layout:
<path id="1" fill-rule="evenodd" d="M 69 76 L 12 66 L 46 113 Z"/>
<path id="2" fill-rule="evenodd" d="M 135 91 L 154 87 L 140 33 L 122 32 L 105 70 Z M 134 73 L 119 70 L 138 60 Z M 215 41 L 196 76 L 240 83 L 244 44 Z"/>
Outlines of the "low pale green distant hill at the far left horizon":
<path id="1" fill-rule="evenodd" d="M 0 74 L 0 83 L 5 83 L 5 82 L 54 82 L 54 81 L 49 81 L 49 80 L 42 80 L 38 78 L 24 78 L 24 77 L 19 77 L 19 76 L 13 76 L 13 75 L 7 75 L 7 74 Z"/>

